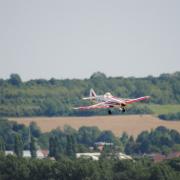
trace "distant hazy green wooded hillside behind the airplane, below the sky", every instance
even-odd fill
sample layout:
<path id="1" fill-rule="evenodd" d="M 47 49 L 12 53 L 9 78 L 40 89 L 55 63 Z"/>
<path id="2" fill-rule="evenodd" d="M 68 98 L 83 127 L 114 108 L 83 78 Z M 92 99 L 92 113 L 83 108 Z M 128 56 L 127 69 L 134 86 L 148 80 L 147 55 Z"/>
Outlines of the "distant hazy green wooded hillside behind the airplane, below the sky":
<path id="1" fill-rule="evenodd" d="M 97 94 L 107 91 L 119 97 L 150 95 L 149 103 L 180 103 L 180 72 L 159 77 L 106 77 L 96 72 L 89 79 L 36 79 L 23 82 L 18 74 L 0 79 L 0 116 L 67 116 L 107 114 L 106 111 L 75 111 L 73 107 L 89 105 L 81 98 L 94 88 Z M 119 113 L 114 110 L 114 114 Z M 127 113 L 152 113 L 148 106 L 130 107 Z"/>

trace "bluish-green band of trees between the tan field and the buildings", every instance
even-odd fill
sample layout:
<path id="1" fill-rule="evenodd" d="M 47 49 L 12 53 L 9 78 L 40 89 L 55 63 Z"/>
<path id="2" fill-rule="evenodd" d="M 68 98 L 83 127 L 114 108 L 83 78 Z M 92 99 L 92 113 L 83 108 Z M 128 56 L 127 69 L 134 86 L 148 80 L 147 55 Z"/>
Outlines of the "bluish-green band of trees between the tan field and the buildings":
<path id="1" fill-rule="evenodd" d="M 0 151 L 13 150 L 22 156 L 23 150 L 30 150 L 36 156 L 38 148 L 48 149 L 49 156 L 59 159 L 61 156 L 74 158 L 78 152 L 97 152 L 96 142 L 112 143 L 108 153 L 125 152 L 129 155 L 150 153 L 168 154 L 180 151 L 180 133 L 163 126 L 143 131 L 135 139 L 126 132 L 116 137 L 111 131 L 101 131 L 98 127 L 82 126 L 78 130 L 70 126 L 42 133 L 36 123 L 29 126 L 0 119 Z M 93 149 L 89 149 L 93 147 Z"/>

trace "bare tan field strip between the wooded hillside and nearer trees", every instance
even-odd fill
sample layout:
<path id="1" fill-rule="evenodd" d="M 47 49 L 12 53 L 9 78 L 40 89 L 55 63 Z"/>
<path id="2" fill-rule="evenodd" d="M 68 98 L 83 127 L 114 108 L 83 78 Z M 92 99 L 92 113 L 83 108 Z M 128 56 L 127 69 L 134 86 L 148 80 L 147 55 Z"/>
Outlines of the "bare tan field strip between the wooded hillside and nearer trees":
<path id="1" fill-rule="evenodd" d="M 180 131 L 180 121 L 162 121 L 150 115 L 124 115 L 124 116 L 93 116 L 93 117 L 37 117 L 37 118 L 10 118 L 18 123 L 28 125 L 34 121 L 43 132 L 64 125 L 78 129 L 81 126 L 98 126 L 101 130 L 111 130 L 116 136 L 120 136 L 122 132 L 129 135 L 137 136 L 143 130 L 151 130 L 158 126 L 165 126 L 170 129 Z"/>

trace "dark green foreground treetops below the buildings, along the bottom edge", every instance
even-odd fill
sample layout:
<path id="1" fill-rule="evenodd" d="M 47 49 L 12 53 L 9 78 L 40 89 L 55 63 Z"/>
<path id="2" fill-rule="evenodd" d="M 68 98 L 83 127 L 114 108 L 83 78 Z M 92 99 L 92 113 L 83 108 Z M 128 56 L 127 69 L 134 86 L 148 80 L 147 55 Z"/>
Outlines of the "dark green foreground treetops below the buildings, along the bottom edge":
<path id="1" fill-rule="evenodd" d="M 148 159 L 68 159 L 58 161 L 0 154 L 0 179 L 14 180 L 179 180 L 180 159 L 154 164 Z"/>

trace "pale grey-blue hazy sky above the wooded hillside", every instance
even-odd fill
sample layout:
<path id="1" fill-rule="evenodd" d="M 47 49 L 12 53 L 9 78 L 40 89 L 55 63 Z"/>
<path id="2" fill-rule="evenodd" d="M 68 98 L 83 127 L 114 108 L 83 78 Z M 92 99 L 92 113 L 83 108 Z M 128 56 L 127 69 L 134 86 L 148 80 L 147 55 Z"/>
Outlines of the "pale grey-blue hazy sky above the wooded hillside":
<path id="1" fill-rule="evenodd" d="M 180 71 L 179 0 L 0 0 L 0 78 Z"/>

